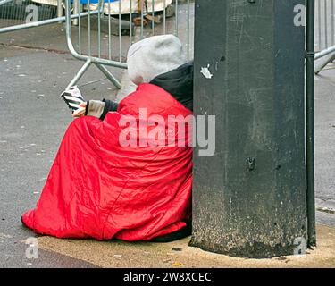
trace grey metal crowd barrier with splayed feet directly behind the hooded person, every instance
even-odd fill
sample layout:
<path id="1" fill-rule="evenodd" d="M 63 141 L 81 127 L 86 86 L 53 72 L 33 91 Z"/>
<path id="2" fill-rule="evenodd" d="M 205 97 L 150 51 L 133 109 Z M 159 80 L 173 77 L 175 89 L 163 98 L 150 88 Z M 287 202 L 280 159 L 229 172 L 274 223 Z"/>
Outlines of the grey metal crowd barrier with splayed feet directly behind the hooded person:
<path id="1" fill-rule="evenodd" d="M 67 88 L 75 85 L 92 63 L 115 87 L 121 88 L 121 83 L 105 66 L 127 69 L 125 53 L 128 47 L 139 39 L 152 35 L 175 34 L 184 43 L 188 59 L 193 56 L 193 35 L 191 33 L 193 27 L 191 25 L 194 19 L 192 17 L 194 1 L 105 0 L 104 2 L 104 0 L 97 0 L 96 2 L 94 3 L 94 0 L 80 0 L 80 2 L 74 0 L 72 3 L 71 0 L 65 0 L 67 44 L 71 55 L 85 62 Z M 71 7 L 78 20 L 75 23 L 71 21 Z M 86 9 L 88 13 L 85 23 L 80 17 L 82 9 Z M 96 13 L 97 18 L 93 17 L 93 13 Z M 174 17 L 172 17 L 173 14 Z M 103 23 L 105 24 L 104 31 Z M 73 41 L 73 29 L 76 29 L 77 41 Z M 87 38 L 87 45 L 82 43 L 83 36 Z"/>

